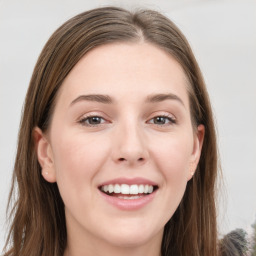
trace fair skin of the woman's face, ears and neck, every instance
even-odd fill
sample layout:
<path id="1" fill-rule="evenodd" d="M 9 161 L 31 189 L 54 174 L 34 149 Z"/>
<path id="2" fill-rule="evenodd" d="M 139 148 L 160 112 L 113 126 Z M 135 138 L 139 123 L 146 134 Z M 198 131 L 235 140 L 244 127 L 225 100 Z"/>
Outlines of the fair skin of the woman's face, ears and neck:
<path id="1" fill-rule="evenodd" d="M 187 86 L 177 61 L 144 42 L 97 47 L 71 70 L 47 134 L 35 129 L 42 175 L 65 204 L 65 255 L 160 255 L 204 137 L 202 125 L 192 127 Z M 113 102 L 76 100 L 95 94 Z M 176 98 L 149 102 L 155 94 Z M 102 118 L 90 125 L 88 115 Z M 157 183 L 154 199 L 132 211 L 110 205 L 98 186 L 119 177 Z"/>

